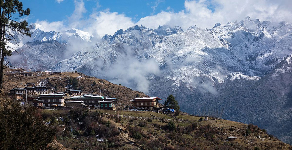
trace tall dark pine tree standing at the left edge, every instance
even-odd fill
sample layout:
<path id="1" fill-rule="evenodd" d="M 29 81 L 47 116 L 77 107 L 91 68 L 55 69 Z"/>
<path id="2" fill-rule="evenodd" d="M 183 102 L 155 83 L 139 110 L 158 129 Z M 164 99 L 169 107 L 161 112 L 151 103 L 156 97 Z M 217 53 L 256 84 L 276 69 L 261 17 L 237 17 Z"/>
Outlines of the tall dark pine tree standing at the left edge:
<path id="1" fill-rule="evenodd" d="M 4 82 L 4 69 L 10 67 L 7 62 L 4 64 L 6 56 L 11 56 L 11 48 L 6 45 L 8 41 L 16 41 L 11 31 L 17 31 L 21 35 L 31 36 L 30 29 L 26 20 L 18 22 L 17 19 L 29 15 L 30 9 L 24 10 L 22 2 L 19 0 L 0 0 L 0 89 Z M 19 18 L 15 18 L 19 15 Z M 13 49 L 14 50 L 14 49 Z"/>

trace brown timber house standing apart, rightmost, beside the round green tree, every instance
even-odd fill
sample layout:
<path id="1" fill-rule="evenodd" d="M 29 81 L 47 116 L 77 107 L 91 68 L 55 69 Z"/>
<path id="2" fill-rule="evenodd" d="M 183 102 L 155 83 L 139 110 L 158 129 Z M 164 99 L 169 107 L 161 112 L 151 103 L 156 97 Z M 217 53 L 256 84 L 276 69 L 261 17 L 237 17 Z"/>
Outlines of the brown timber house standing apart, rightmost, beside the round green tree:
<path id="1" fill-rule="evenodd" d="M 133 102 L 134 108 L 143 108 L 143 109 L 149 109 L 150 111 L 153 111 L 154 106 L 157 106 L 158 100 L 161 100 L 158 97 L 140 97 L 135 98 L 131 100 Z"/>

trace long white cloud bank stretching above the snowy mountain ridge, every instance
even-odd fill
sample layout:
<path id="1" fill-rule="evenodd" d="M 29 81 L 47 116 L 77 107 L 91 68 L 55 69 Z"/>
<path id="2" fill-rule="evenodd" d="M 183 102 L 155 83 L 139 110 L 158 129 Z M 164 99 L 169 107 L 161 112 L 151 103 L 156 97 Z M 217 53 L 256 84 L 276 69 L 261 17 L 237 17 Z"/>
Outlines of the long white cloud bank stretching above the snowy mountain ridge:
<path id="1" fill-rule="evenodd" d="M 61 0 L 57 1 L 61 3 Z M 125 14 L 111 12 L 110 9 L 99 10 L 97 2 L 96 9 L 89 16 L 84 16 L 87 11 L 84 0 L 74 0 L 75 10 L 67 20 L 48 22 L 37 20 L 35 23 L 45 27 L 45 31 L 63 32 L 67 29 L 77 28 L 101 38 L 105 34 L 113 35 L 119 29 L 127 29 L 134 25 L 145 25 L 149 28 L 157 28 L 159 25 L 180 26 L 186 30 L 192 25 L 202 28 L 212 28 L 215 23 L 225 24 L 230 20 L 241 20 L 246 16 L 267 21 L 292 22 L 291 6 L 289 0 L 199 0 L 184 2 L 184 9 L 174 12 L 171 8 L 157 14 L 149 14 L 140 18 L 137 22 Z M 155 3 L 159 5 L 159 1 Z M 155 7 L 156 8 L 156 7 Z"/>

